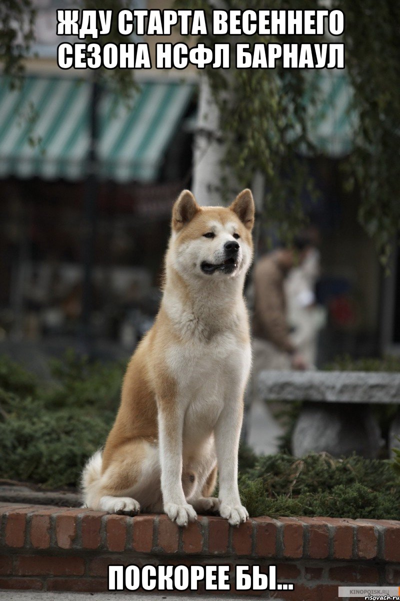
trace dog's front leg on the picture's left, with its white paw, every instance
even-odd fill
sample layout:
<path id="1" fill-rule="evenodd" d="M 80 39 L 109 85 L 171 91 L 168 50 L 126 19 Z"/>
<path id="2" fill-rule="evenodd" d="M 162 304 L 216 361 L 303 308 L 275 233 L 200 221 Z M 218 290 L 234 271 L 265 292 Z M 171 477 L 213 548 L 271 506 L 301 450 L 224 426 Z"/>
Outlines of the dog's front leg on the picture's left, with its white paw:
<path id="1" fill-rule="evenodd" d="M 194 522 L 197 514 L 186 502 L 182 487 L 183 412 L 159 406 L 158 432 L 160 439 L 161 492 L 164 511 L 178 526 Z"/>

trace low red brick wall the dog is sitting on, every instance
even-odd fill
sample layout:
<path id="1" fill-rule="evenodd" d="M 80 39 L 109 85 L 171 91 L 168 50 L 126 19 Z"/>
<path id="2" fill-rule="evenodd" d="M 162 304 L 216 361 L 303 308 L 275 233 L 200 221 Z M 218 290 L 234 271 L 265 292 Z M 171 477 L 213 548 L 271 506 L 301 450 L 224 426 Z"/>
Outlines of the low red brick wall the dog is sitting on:
<path id="1" fill-rule="evenodd" d="M 294 582 L 293 591 L 275 597 L 296 601 L 338 599 L 339 585 L 400 584 L 394 521 L 257 517 L 231 528 L 219 517 L 200 517 L 178 528 L 164 515 L 5 503 L 0 519 L 0 589 L 107 591 L 109 564 L 229 564 L 225 594 L 236 592 L 237 564 L 264 572 L 275 564 L 278 582 Z M 268 598 L 266 591 L 251 594 Z"/>

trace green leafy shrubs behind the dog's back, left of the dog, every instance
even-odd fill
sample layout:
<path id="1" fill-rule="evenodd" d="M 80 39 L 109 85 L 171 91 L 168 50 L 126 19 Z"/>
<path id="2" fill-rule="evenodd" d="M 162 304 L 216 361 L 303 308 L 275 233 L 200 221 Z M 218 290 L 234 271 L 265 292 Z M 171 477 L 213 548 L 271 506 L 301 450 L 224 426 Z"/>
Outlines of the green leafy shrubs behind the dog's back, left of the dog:
<path id="1" fill-rule="evenodd" d="M 39 386 L 0 358 L 0 475 L 43 487 L 76 486 L 112 427 L 124 368 L 90 364 L 73 352 L 50 367 L 53 381 Z"/>

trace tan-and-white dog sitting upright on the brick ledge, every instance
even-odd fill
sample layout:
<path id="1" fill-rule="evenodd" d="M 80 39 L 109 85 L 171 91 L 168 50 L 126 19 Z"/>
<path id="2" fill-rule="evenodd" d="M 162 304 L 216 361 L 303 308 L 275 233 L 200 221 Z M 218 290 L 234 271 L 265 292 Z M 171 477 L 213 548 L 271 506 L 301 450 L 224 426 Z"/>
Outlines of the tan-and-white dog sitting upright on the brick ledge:
<path id="1" fill-rule="evenodd" d="M 164 511 L 179 526 L 196 512 L 219 511 L 236 526 L 248 518 L 237 453 L 251 367 L 243 286 L 253 225 L 248 189 L 230 207 L 201 207 L 188 190 L 176 200 L 160 310 L 128 364 L 104 450 L 83 469 L 87 507 Z"/>

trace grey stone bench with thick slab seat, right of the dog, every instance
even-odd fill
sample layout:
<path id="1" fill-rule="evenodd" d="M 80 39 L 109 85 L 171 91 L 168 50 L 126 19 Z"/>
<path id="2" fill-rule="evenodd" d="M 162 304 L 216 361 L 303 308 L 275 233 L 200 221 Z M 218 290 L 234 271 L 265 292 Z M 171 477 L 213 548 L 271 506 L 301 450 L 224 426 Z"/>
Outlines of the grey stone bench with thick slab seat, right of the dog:
<path id="1" fill-rule="evenodd" d="M 326 451 L 377 457 L 384 441 L 371 404 L 400 404 L 400 374 L 363 371 L 262 371 L 261 397 L 304 401 L 294 427 L 296 456 Z M 399 447 L 400 414 L 390 427 L 390 448 Z"/>

